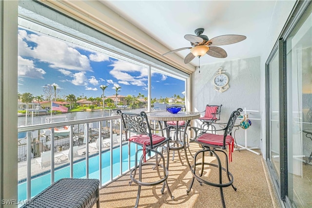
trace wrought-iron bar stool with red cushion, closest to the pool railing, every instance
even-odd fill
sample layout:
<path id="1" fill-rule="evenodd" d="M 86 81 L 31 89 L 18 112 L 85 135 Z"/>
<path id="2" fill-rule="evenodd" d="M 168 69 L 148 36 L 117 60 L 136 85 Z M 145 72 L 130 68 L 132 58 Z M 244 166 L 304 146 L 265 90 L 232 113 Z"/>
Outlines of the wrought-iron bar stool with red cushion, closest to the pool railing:
<path id="1" fill-rule="evenodd" d="M 121 115 L 123 130 L 125 131 L 126 141 L 129 141 L 129 151 L 130 151 L 130 143 L 134 143 L 137 146 L 142 146 L 142 148 L 137 148 L 135 154 L 135 166 L 130 170 L 130 183 L 134 182 L 138 185 L 137 190 L 137 201 L 135 208 L 138 206 L 141 186 L 155 186 L 158 184 L 163 184 L 160 190 L 161 194 L 163 194 L 165 187 L 167 187 L 168 193 L 172 199 L 175 197 L 172 195 L 170 188 L 168 186 L 167 178 L 169 175 L 168 164 L 169 164 L 169 140 L 170 138 L 164 137 L 163 132 L 167 132 L 167 128 L 163 129 L 153 129 L 151 128 L 149 121 L 147 119 L 147 115 L 144 111 L 140 113 L 129 113 L 129 112 L 121 112 L 121 110 L 117 110 L 117 114 Z M 159 125 L 160 126 L 160 125 Z M 158 131 L 161 135 L 152 134 L 152 132 Z M 130 134 L 133 134 L 130 136 Z M 164 145 L 167 145 L 167 164 L 165 162 L 165 158 L 162 154 L 162 151 L 158 151 L 158 147 L 161 150 L 164 148 Z M 140 156 L 138 162 L 138 153 L 142 151 L 142 155 Z M 151 153 L 155 155 L 152 156 Z M 131 154 L 131 152 L 129 152 Z M 146 160 L 146 155 L 151 156 L 150 160 Z M 160 157 L 160 159 L 158 159 Z M 153 161 L 153 159 L 155 159 Z M 138 163 L 138 164 L 137 164 Z M 146 177 L 142 177 L 144 174 L 144 169 L 142 166 L 151 166 L 152 170 L 156 170 L 156 173 L 159 177 L 158 181 L 153 182 L 144 182 Z M 162 171 L 159 171 L 159 170 Z M 136 177 L 138 172 L 138 177 Z M 162 174 L 161 174 L 162 172 Z M 148 172 L 148 174 L 151 174 Z"/>

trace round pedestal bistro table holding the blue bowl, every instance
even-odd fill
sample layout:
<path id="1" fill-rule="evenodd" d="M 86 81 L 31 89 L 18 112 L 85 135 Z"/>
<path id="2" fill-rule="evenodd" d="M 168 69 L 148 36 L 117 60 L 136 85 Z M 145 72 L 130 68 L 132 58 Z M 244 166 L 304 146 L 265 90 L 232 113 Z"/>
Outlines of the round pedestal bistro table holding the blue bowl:
<path id="1" fill-rule="evenodd" d="M 199 117 L 200 117 L 199 112 L 188 112 L 188 111 L 179 111 L 176 114 L 169 113 L 168 111 L 164 111 L 164 110 L 147 113 L 147 118 L 149 120 L 160 121 L 160 122 L 163 121 L 165 123 L 165 127 L 167 127 L 167 121 L 176 121 L 176 136 L 174 137 L 173 140 L 170 141 L 170 143 L 171 144 L 173 143 L 173 145 L 170 145 L 169 149 L 177 150 L 179 160 L 182 165 L 183 165 L 183 162 L 181 160 L 179 150 L 183 148 L 186 149 L 188 147 L 187 146 L 188 143 L 185 140 L 187 126 L 190 124 L 191 120 L 198 119 Z M 179 131 L 178 121 L 185 121 L 184 131 L 183 131 L 183 140 L 182 138 L 179 139 L 177 136 L 178 131 Z M 168 135 L 169 135 L 169 130 L 168 130 Z"/>

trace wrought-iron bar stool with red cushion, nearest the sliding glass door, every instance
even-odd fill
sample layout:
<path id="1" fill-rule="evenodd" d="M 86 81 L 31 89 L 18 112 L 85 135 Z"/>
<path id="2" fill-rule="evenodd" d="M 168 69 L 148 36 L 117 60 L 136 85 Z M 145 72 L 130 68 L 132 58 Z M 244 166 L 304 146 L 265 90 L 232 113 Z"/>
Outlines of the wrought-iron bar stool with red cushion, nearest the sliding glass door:
<path id="1" fill-rule="evenodd" d="M 232 161 L 232 153 L 234 150 L 234 138 L 232 137 L 232 130 L 235 124 L 235 121 L 237 119 L 237 116 L 239 116 L 240 112 L 242 112 L 242 108 L 238 108 L 237 110 L 234 110 L 229 118 L 229 121 L 227 125 L 223 129 L 216 129 L 215 132 L 223 132 L 223 134 L 212 134 L 207 133 L 205 129 L 197 128 L 197 127 L 190 127 L 191 130 L 195 131 L 194 138 L 191 139 L 190 143 L 197 143 L 199 144 L 202 149 L 198 150 L 194 155 L 194 162 L 193 165 L 190 165 L 190 170 L 192 172 L 193 178 L 191 181 L 191 185 L 187 190 L 187 194 L 191 191 L 191 188 L 194 184 L 194 180 L 196 179 L 199 183 L 207 184 L 209 186 L 213 187 L 219 187 L 220 188 L 220 195 L 221 195 L 221 202 L 223 208 L 225 208 L 225 201 L 223 196 L 223 187 L 229 187 L 232 186 L 234 190 L 236 191 L 236 187 L 233 186 L 234 177 L 232 173 L 229 171 L 229 162 L 228 162 L 228 155 L 225 150 L 228 149 L 229 154 L 229 160 Z M 205 152 L 211 152 L 213 156 L 215 156 L 216 163 L 212 162 L 205 162 Z M 222 166 L 222 162 L 220 160 L 220 157 L 218 156 L 217 152 L 223 154 L 225 156 L 225 161 L 223 163 L 224 166 Z M 197 161 L 197 156 L 201 155 L 201 162 Z M 211 179 L 205 175 L 204 173 L 208 174 L 210 171 L 204 171 L 204 167 L 208 168 L 218 168 L 219 172 L 219 183 L 212 182 Z M 196 169 L 197 168 L 197 169 Z M 199 169 L 199 170 L 198 170 Z M 222 179 L 222 171 L 226 173 L 226 182 Z"/>

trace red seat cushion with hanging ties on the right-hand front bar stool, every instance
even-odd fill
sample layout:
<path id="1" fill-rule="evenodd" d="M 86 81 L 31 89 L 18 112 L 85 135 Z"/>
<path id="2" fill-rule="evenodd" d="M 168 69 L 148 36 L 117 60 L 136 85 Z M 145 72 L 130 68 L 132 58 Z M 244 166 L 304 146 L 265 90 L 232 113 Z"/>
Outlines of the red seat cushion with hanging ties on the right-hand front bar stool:
<path id="1" fill-rule="evenodd" d="M 198 142 L 205 143 L 207 146 L 223 146 L 223 135 L 204 133 L 197 138 Z M 232 152 L 234 150 L 234 138 L 231 135 L 227 135 L 225 138 L 225 146 L 229 146 L 229 161 L 232 161 Z"/>

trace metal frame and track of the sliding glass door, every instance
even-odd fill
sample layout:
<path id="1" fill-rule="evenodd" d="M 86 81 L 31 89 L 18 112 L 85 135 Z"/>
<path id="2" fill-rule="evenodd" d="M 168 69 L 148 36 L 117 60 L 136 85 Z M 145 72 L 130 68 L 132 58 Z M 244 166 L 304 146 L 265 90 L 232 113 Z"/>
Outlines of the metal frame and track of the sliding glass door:
<path id="1" fill-rule="evenodd" d="M 266 160 L 270 174 L 273 178 L 273 184 L 280 199 L 286 207 L 292 207 L 288 198 L 288 136 L 287 136 L 287 63 L 286 63 L 286 41 L 292 30 L 309 7 L 312 1 L 297 0 L 290 14 L 290 18 L 286 22 L 278 41 L 275 43 L 273 50 L 266 62 Z M 279 53 L 279 126 L 280 126 L 280 182 L 273 169 L 270 161 L 270 77 L 269 66 L 275 53 Z"/>

